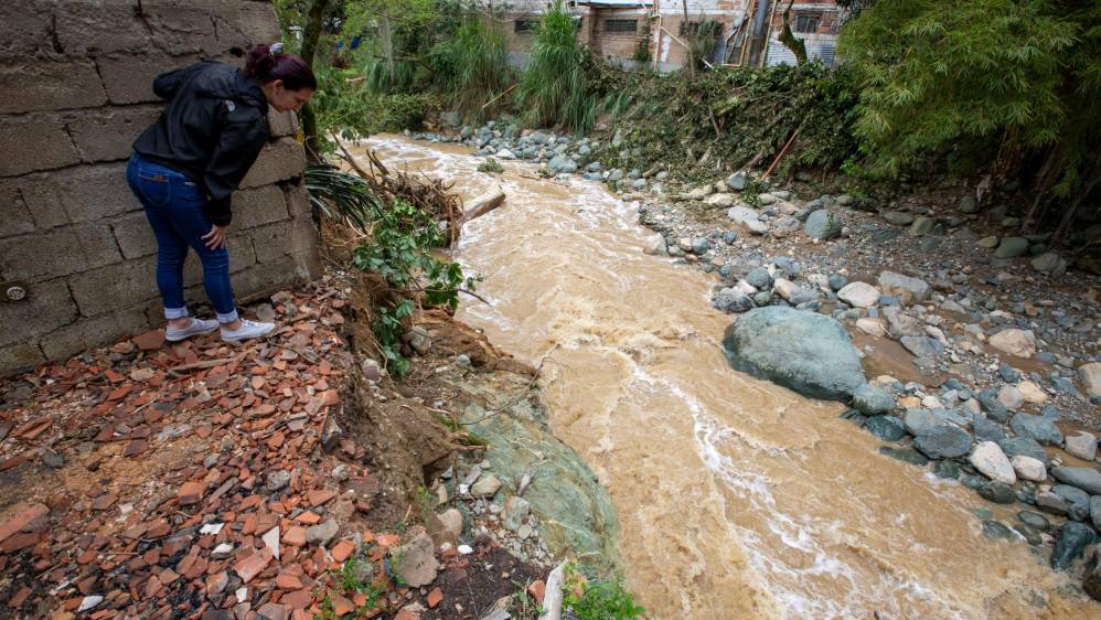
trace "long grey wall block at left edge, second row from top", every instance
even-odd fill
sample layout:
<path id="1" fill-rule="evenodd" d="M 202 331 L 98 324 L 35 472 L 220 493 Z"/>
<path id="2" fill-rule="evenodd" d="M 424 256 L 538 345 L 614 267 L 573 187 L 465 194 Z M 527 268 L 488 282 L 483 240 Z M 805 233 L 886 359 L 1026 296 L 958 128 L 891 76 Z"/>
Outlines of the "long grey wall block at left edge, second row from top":
<path id="1" fill-rule="evenodd" d="M 0 114 L 90 108 L 107 103 L 88 60 L 20 58 L 0 64 Z"/>

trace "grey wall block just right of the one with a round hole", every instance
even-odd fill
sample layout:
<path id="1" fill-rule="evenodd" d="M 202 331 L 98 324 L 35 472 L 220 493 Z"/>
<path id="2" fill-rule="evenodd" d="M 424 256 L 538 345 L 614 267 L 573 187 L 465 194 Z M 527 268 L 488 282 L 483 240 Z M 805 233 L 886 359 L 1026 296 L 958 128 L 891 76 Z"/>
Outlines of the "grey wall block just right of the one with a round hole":
<path id="1" fill-rule="evenodd" d="M 71 276 L 68 286 L 81 314 L 95 317 L 156 298 L 156 269 L 157 257 L 150 256 Z"/>

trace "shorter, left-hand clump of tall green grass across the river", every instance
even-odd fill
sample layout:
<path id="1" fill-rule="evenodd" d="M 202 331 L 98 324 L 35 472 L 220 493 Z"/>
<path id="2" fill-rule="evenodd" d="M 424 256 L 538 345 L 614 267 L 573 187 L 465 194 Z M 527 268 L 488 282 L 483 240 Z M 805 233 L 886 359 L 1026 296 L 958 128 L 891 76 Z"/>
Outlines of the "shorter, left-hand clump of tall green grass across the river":
<path id="1" fill-rule="evenodd" d="M 468 15 L 453 35 L 437 43 L 429 60 L 445 97 L 464 114 L 479 113 L 512 83 L 504 35 L 477 15 Z"/>

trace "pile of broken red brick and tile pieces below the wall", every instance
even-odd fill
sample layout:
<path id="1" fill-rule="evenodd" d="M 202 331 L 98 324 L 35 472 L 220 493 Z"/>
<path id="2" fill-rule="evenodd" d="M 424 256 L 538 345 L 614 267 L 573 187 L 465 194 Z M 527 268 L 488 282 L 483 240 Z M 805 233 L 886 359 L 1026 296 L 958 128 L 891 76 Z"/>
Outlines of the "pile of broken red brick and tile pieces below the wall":
<path id="1" fill-rule="evenodd" d="M 0 617 L 300 620 L 405 606 L 415 592 L 380 569 L 378 609 L 330 589 L 348 558 L 382 566 L 398 543 L 348 533 L 371 506 L 340 482 L 370 474 L 321 449 L 356 451 L 327 436 L 345 303 L 311 285 L 264 307 L 278 327 L 261 341 L 173 344 L 154 331 L 0 384 Z"/>

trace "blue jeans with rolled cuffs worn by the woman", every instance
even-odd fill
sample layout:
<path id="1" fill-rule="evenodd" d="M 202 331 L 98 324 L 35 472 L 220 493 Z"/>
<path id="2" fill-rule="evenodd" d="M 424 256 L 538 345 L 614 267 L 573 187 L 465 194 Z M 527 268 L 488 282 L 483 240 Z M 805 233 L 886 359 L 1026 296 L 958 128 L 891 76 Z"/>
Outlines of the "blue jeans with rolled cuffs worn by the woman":
<path id="1" fill-rule="evenodd" d="M 146 209 L 146 217 L 157 236 L 157 287 L 164 301 L 164 318 L 188 316 L 183 299 L 183 261 L 191 247 L 203 264 L 203 285 L 218 322 L 237 320 L 237 306 L 229 286 L 229 252 L 225 247 L 210 249 L 203 235 L 213 226 L 203 214 L 206 196 L 182 172 L 142 159 L 130 157 L 126 180 L 133 195 Z"/>

